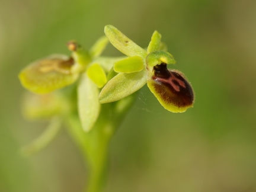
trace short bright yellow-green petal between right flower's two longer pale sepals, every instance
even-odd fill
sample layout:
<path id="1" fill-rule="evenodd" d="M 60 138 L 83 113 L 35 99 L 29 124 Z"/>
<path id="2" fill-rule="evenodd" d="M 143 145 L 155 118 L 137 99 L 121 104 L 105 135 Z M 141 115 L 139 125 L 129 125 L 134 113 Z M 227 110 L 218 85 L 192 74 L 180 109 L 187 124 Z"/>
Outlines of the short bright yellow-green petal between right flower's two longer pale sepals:
<path id="1" fill-rule="evenodd" d="M 143 68 L 144 60 L 139 56 L 127 57 L 114 63 L 116 72 L 133 73 L 142 71 Z"/>

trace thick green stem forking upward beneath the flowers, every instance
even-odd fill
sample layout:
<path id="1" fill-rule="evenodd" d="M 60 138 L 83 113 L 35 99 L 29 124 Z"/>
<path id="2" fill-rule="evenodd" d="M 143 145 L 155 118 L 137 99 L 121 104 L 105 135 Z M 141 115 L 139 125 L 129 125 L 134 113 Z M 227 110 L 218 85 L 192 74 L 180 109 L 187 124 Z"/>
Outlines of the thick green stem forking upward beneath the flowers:
<path id="1" fill-rule="evenodd" d="M 90 132 L 82 129 L 78 114 L 66 118 L 67 127 L 76 144 L 81 149 L 85 164 L 89 165 L 90 178 L 87 192 L 103 190 L 107 176 L 108 147 L 122 117 L 134 101 L 130 95 L 116 103 L 101 105 L 101 113 Z"/>

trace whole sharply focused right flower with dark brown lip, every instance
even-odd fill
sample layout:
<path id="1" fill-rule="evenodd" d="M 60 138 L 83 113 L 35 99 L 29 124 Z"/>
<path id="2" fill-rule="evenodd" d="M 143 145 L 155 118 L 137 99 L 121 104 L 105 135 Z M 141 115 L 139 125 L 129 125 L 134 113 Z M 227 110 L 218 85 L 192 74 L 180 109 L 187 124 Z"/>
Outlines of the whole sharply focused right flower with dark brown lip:
<path id="1" fill-rule="evenodd" d="M 112 25 L 105 26 L 105 35 L 116 49 L 129 57 L 114 63 L 113 69 L 119 73 L 101 90 L 100 103 L 120 100 L 148 84 L 159 103 L 167 110 L 181 113 L 193 107 L 191 85 L 181 72 L 167 69 L 167 64 L 174 64 L 175 60 L 166 51 L 158 31 L 154 31 L 147 50 Z"/>

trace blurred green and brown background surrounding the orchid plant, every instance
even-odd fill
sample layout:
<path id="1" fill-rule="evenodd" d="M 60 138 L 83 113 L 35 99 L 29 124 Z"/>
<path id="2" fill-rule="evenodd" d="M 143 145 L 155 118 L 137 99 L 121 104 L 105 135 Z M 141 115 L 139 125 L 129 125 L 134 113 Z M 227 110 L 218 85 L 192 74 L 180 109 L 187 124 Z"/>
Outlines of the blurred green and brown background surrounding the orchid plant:
<path id="1" fill-rule="evenodd" d="M 256 1 L 1 0 L 0 191 L 82 191 L 88 178 L 65 129 L 30 158 L 21 146 L 43 132 L 20 111 L 17 74 L 66 42 L 91 47 L 112 24 L 142 47 L 154 30 L 196 92 L 170 113 L 149 89 L 111 142 L 106 191 L 256 191 Z M 111 45 L 104 55 L 120 56 Z"/>

